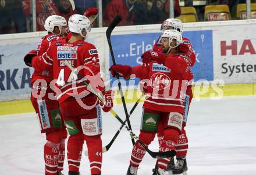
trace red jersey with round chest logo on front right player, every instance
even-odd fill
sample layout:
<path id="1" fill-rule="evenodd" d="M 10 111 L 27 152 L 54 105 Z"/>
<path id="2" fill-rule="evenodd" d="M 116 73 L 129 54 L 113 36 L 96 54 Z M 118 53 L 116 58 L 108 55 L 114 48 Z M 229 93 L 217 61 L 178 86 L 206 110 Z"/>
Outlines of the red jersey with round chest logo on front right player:
<path id="1" fill-rule="evenodd" d="M 150 63 L 132 67 L 135 74 L 147 83 L 147 94 L 143 107 L 163 112 L 184 112 L 184 94 L 187 82 L 193 78 L 189 74 L 191 59 L 186 54 L 171 54 L 165 64 Z"/>

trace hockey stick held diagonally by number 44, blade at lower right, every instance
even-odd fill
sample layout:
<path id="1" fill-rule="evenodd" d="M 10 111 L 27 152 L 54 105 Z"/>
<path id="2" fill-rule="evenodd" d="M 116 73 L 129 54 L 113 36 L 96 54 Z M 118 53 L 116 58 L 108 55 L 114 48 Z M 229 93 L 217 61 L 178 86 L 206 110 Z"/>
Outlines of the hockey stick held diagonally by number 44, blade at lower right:
<path id="1" fill-rule="evenodd" d="M 80 74 L 78 74 L 77 71 L 74 70 L 74 68 L 69 64 L 69 62 L 67 62 L 67 60 L 65 60 L 65 64 L 67 65 L 67 67 L 70 68 L 70 70 L 77 75 L 78 78 L 83 78 Z M 93 90 L 93 88 L 91 88 L 91 86 L 86 82 L 83 81 L 84 84 L 87 86 L 88 90 L 90 90 L 91 93 L 95 94 L 95 96 L 98 97 L 99 101 L 103 101 L 102 97 Z M 150 154 L 152 156 L 152 158 L 170 158 L 176 155 L 176 151 L 172 150 L 172 151 L 166 151 L 166 152 L 153 152 L 150 151 L 148 149 L 148 147 L 136 136 L 136 134 L 134 134 L 134 132 L 125 124 L 125 122 L 122 121 L 122 119 L 120 119 L 120 117 L 118 116 L 118 114 L 116 114 L 115 111 L 113 111 L 112 109 L 110 110 L 110 112 L 113 114 L 113 116 L 115 116 L 116 119 L 118 119 L 118 121 L 120 123 L 122 123 L 123 126 L 126 127 L 127 131 L 130 132 L 130 134 L 138 141 L 138 143 L 141 144 L 141 146 L 143 146 L 145 148 L 145 150 L 148 152 L 148 154 Z"/>

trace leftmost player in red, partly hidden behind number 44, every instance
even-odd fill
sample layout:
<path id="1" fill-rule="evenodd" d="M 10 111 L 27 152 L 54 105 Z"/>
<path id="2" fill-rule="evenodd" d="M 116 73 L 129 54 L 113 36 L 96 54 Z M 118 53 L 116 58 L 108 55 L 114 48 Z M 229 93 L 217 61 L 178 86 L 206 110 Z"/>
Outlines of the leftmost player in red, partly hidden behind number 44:
<path id="1" fill-rule="evenodd" d="M 31 57 L 35 55 L 41 56 L 46 52 L 52 41 L 59 38 L 59 35 L 65 34 L 66 26 L 65 18 L 56 15 L 49 16 L 44 24 L 48 34 L 40 39 L 37 51 L 31 50 L 24 57 L 25 63 L 31 66 L 27 60 L 31 60 Z M 56 99 L 49 99 L 48 97 L 48 94 L 53 93 L 49 86 L 52 81 L 51 74 L 51 70 L 34 70 L 31 77 L 31 103 L 38 114 L 41 133 L 46 134 L 47 143 L 44 145 L 45 174 L 61 175 L 65 159 L 67 131 L 59 112 L 58 102 Z M 38 81 L 40 83 L 37 83 Z M 46 95 L 40 96 L 40 94 Z"/>

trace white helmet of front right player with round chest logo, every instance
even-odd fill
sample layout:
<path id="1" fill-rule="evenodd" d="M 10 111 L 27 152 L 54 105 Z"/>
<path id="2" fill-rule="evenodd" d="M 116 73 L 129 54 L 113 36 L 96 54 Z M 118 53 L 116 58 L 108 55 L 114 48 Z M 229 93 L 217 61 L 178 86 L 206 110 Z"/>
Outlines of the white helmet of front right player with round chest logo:
<path id="1" fill-rule="evenodd" d="M 170 49 L 172 48 L 176 48 L 177 46 L 180 45 L 180 43 L 182 43 L 182 34 L 177 31 L 177 30 L 166 30 L 163 31 L 162 35 L 161 35 L 161 41 L 163 42 L 163 38 L 169 38 L 169 47 Z M 176 46 L 171 46 L 172 40 L 176 39 Z M 170 49 L 168 50 L 168 53 L 170 52 Z"/>

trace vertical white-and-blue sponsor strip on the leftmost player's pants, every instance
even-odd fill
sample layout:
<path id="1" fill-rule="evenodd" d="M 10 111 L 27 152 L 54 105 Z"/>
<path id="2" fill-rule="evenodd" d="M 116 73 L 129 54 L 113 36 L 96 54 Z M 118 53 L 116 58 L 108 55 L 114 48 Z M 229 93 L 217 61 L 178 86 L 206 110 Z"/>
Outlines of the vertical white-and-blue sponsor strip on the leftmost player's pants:
<path id="1" fill-rule="evenodd" d="M 51 125 L 50 125 L 50 121 L 49 121 L 49 115 L 48 115 L 45 100 L 38 100 L 37 103 L 38 103 L 38 109 L 39 109 L 42 129 L 47 129 L 47 128 L 51 127 Z"/>

